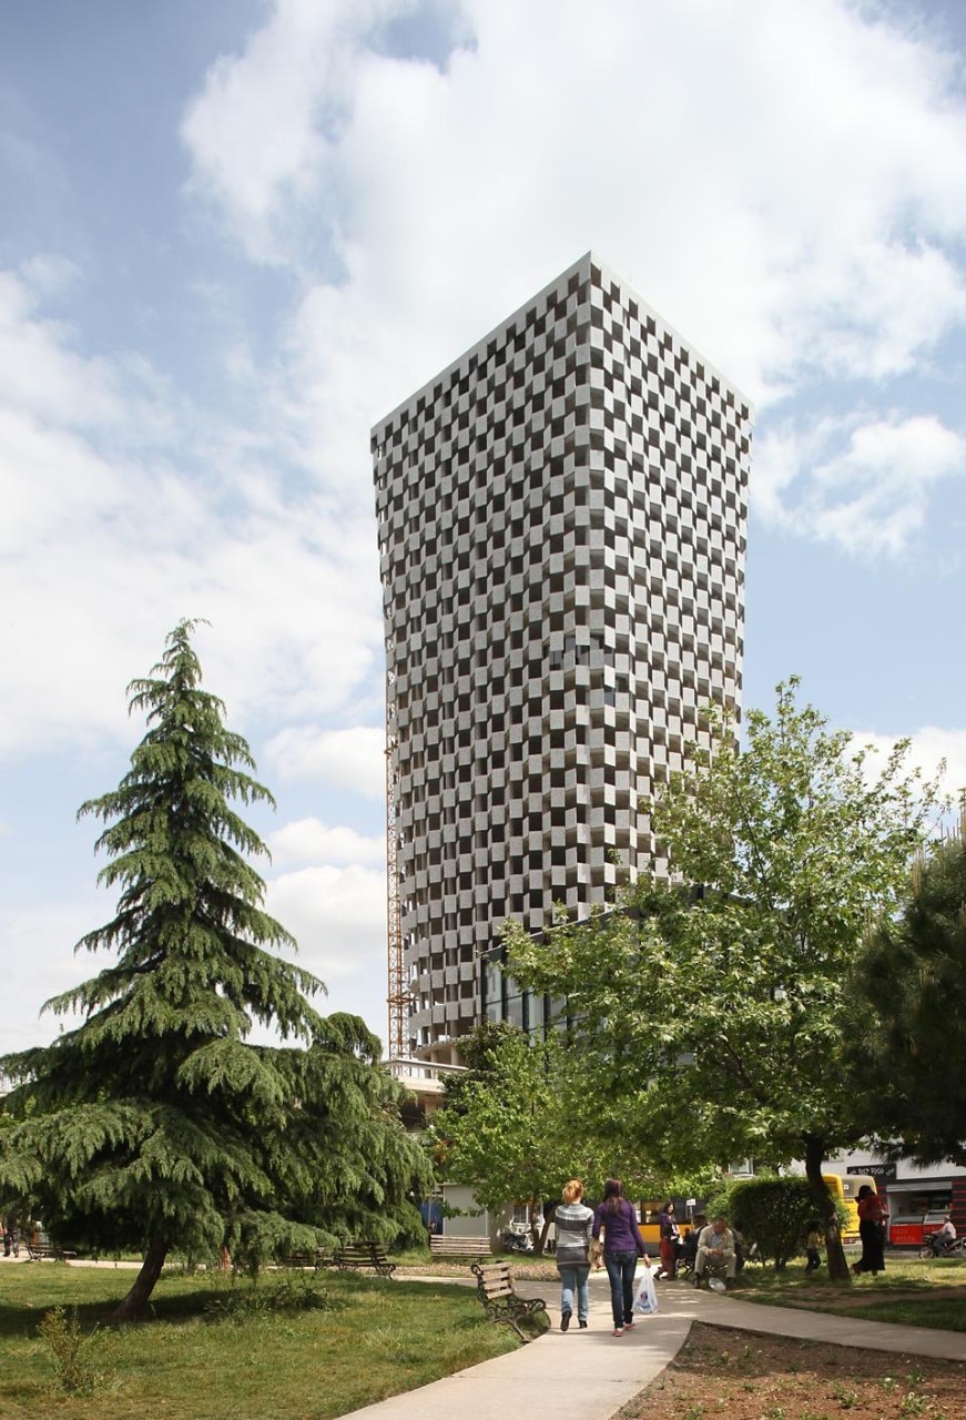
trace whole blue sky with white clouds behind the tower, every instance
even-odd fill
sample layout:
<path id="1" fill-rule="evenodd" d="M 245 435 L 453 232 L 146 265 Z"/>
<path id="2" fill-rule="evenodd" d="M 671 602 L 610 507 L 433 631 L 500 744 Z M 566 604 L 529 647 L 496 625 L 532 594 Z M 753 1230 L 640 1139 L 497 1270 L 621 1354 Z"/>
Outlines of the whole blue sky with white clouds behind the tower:
<path id="1" fill-rule="evenodd" d="M 966 784 L 965 65 L 952 4 L 0 9 L 0 1051 L 101 964 L 75 811 L 182 616 L 385 1034 L 368 430 L 588 248 L 756 405 L 746 704 Z"/>

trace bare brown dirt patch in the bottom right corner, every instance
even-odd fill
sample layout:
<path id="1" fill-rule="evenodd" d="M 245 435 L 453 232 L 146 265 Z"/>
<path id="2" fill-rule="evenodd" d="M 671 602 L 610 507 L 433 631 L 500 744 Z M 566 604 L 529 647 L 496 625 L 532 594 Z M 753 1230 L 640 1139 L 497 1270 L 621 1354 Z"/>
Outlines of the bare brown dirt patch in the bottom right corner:
<path id="1" fill-rule="evenodd" d="M 966 1363 L 698 1322 L 619 1420 L 966 1420 Z"/>

